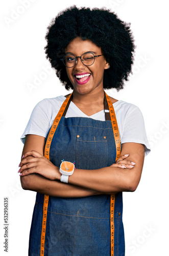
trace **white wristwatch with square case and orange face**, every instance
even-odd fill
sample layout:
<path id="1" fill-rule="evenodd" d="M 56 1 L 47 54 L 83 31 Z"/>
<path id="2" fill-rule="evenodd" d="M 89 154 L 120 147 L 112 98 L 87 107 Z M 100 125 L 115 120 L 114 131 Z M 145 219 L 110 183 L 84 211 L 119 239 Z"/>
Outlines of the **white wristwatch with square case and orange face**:
<path id="1" fill-rule="evenodd" d="M 62 174 L 62 176 L 60 177 L 60 181 L 68 183 L 68 177 L 70 175 L 73 175 L 74 169 L 74 163 L 64 161 L 63 159 L 59 169 L 60 173 Z"/>

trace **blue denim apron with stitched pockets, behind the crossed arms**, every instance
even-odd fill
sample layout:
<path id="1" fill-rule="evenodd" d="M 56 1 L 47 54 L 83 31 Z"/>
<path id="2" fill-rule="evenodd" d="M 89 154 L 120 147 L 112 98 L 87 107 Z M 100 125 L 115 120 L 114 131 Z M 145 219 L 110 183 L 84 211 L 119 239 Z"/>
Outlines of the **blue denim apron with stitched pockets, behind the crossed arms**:
<path id="1" fill-rule="evenodd" d="M 115 162 L 110 120 L 61 117 L 51 142 L 50 161 L 64 159 L 77 169 L 99 169 Z M 29 256 L 40 255 L 44 195 L 37 193 L 29 241 Z M 122 193 L 115 194 L 114 256 L 125 256 Z M 84 198 L 49 197 L 44 256 L 110 256 L 110 195 Z"/>

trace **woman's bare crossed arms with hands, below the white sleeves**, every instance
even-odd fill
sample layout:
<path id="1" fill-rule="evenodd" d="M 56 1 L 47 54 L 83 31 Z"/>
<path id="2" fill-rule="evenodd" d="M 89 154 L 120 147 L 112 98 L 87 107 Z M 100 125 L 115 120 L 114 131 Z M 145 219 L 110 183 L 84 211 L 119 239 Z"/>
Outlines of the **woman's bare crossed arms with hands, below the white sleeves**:
<path id="1" fill-rule="evenodd" d="M 109 167 L 75 169 L 68 184 L 60 182 L 59 167 L 43 156 L 44 145 L 44 137 L 27 135 L 18 171 L 23 189 L 56 197 L 86 197 L 134 191 L 138 186 L 144 160 L 142 144 L 122 144 L 120 158 Z"/>

